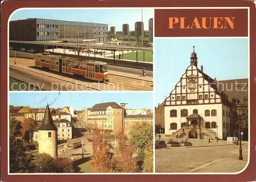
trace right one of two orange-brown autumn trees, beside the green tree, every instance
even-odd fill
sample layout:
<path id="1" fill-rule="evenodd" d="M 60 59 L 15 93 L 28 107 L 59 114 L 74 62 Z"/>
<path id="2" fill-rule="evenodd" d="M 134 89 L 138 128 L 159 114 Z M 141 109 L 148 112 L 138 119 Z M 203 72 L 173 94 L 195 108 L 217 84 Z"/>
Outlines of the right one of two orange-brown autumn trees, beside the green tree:
<path id="1" fill-rule="evenodd" d="M 118 131 L 116 141 L 118 143 L 115 149 L 116 172 L 137 172 L 137 161 L 134 158 L 136 145 L 126 145 L 127 137 L 123 129 Z"/>

